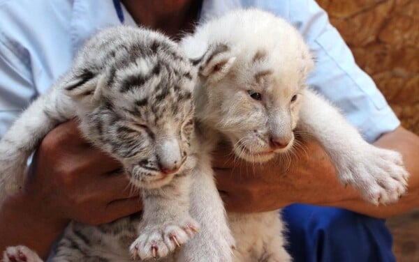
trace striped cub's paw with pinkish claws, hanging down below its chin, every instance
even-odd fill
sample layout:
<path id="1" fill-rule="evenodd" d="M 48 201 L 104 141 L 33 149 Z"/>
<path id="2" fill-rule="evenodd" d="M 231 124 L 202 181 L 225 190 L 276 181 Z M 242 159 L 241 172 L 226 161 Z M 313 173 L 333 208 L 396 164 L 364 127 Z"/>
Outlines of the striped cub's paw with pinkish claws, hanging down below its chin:
<path id="1" fill-rule="evenodd" d="M 189 217 L 161 224 L 145 222 L 140 236 L 129 248 L 133 259 L 159 259 L 173 252 L 199 230 L 199 224 Z"/>

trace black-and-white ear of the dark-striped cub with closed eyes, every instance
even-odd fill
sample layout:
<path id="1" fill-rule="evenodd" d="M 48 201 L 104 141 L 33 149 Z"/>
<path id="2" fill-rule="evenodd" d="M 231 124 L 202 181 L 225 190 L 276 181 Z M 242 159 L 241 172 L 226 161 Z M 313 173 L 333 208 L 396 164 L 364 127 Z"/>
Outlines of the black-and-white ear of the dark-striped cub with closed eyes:
<path id="1" fill-rule="evenodd" d="M 100 99 L 103 84 L 105 84 L 105 74 L 95 75 L 90 70 L 84 69 L 70 76 L 64 84 L 64 91 L 74 100 L 90 98 L 90 101 L 94 102 Z"/>

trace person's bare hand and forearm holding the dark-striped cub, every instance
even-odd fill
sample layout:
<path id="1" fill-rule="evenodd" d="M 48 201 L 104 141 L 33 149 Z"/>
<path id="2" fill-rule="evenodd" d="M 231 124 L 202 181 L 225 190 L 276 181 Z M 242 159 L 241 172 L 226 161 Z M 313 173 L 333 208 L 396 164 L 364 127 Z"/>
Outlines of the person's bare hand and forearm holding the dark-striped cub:
<path id="1" fill-rule="evenodd" d="M 23 189 L 0 206 L 0 249 L 27 245 L 45 257 L 71 219 L 102 224 L 141 209 L 119 163 L 92 148 L 77 121 L 43 139 Z"/>

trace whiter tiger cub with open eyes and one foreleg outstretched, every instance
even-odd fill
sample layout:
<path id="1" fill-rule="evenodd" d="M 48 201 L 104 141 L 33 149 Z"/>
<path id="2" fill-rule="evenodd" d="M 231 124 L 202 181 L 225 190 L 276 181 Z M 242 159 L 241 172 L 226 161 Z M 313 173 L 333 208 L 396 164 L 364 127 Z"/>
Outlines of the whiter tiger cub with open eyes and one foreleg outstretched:
<path id="1" fill-rule="evenodd" d="M 214 144 L 226 139 L 243 160 L 266 162 L 290 150 L 293 131 L 298 130 L 320 142 L 341 183 L 352 185 L 365 200 L 392 203 L 406 192 L 409 174 L 401 155 L 368 144 L 335 107 L 307 88 L 314 66 L 309 47 L 281 18 L 261 10 L 237 10 L 198 26 L 181 45 L 199 68 L 194 96 L 200 137 L 212 134 Z M 202 190 L 193 187 L 192 194 Z M 228 213 L 235 261 L 291 260 L 278 216 L 277 211 Z M 203 261 L 203 249 L 210 248 L 205 236 L 213 232 L 211 214 L 199 217 L 201 233 L 184 247 L 191 261 Z"/>

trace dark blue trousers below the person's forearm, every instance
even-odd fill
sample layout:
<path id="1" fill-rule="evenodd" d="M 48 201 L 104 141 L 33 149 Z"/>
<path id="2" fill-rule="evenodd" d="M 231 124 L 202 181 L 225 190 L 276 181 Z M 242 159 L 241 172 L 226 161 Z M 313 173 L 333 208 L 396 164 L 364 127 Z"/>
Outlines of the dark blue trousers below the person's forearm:
<path id="1" fill-rule="evenodd" d="M 295 262 L 394 262 L 384 219 L 341 208 L 294 204 L 283 209 Z"/>

